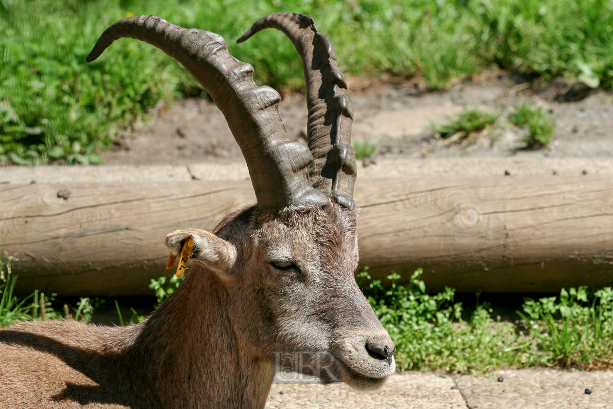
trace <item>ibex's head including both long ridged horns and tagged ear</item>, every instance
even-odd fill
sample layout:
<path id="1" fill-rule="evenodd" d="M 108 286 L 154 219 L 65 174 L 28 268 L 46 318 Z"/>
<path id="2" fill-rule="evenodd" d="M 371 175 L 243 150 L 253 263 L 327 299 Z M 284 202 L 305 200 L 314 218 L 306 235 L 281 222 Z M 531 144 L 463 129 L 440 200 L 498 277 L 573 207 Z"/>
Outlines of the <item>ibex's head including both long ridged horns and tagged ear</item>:
<path id="1" fill-rule="evenodd" d="M 197 280 L 218 283 L 235 342 L 254 361 L 270 362 L 271 350 L 337 350 L 343 381 L 377 388 L 395 370 L 394 344 L 354 277 L 359 209 L 346 80 L 332 42 L 310 17 L 269 15 L 238 42 L 264 28 L 283 31 L 302 56 L 308 147 L 289 140 L 279 94 L 256 86 L 253 67 L 230 56 L 215 33 L 153 15 L 130 17 L 102 34 L 88 61 L 121 37 L 160 48 L 208 91 L 245 156 L 257 205 L 226 216 L 213 233 L 186 229 L 167 237 L 175 254 L 191 237 L 192 257 L 204 265 L 178 292 L 196 288 L 188 283 Z"/>

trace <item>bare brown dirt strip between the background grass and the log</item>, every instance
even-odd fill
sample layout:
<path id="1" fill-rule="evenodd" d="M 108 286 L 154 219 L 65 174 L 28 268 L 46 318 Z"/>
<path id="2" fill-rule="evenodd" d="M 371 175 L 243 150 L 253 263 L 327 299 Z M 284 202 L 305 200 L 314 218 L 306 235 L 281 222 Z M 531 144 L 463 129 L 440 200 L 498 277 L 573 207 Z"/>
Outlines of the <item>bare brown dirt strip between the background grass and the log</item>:
<path id="1" fill-rule="evenodd" d="M 377 143 L 379 158 L 613 157 L 613 93 L 562 79 L 541 84 L 489 72 L 447 91 L 428 91 L 420 80 L 350 78 L 349 93 L 354 105 L 353 140 Z M 557 126 L 548 147 L 526 150 L 521 131 L 504 120 L 472 145 L 438 147 L 429 129 L 431 121 L 441 123 L 463 107 L 503 112 L 506 118 L 523 100 L 552 112 Z M 305 142 L 305 96 L 284 96 L 280 111 L 289 136 Z M 206 99 L 180 99 L 172 107 L 156 107 L 150 117 L 147 126 L 126 133 L 104 154 L 105 164 L 243 161 L 225 118 Z"/>

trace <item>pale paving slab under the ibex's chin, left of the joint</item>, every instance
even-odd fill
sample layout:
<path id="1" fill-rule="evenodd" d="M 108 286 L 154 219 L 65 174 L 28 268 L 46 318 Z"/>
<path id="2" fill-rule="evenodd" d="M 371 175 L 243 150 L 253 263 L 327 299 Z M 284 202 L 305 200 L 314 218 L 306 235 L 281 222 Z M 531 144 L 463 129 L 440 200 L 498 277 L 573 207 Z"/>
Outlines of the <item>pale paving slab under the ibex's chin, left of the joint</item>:
<path id="1" fill-rule="evenodd" d="M 345 384 L 273 384 L 266 409 L 466 409 L 451 377 L 435 373 L 393 375 L 378 391 L 359 392 Z"/>

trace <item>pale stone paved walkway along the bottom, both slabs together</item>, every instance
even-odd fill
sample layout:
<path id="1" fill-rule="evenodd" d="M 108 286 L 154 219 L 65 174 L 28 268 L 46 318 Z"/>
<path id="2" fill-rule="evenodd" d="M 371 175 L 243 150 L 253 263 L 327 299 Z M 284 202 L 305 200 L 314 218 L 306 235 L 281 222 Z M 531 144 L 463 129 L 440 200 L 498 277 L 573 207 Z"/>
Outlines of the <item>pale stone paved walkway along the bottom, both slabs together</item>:
<path id="1" fill-rule="evenodd" d="M 374 392 L 344 384 L 273 384 L 266 408 L 613 408 L 613 371 L 506 370 L 489 377 L 404 372 Z"/>

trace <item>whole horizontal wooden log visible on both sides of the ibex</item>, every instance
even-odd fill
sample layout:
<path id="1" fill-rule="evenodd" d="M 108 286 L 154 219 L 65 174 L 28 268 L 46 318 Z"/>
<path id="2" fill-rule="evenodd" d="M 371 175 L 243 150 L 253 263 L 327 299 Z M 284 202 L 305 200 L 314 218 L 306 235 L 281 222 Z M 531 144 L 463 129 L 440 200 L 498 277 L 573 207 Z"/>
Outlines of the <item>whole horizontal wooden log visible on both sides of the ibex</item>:
<path id="1" fill-rule="evenodd" d="M 361 263 L 424 268 L 429 291 L 613 285 L 613 178 L 362 178 Z M 68 199 L 58 191 L 68 189 Z M 168 232 L 213 229 L 254 202 L 248 181 L 0 185 L 0 234 L 18 291 L 151 294 Z"/>

